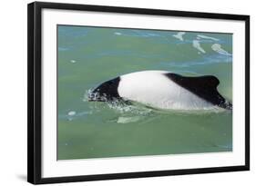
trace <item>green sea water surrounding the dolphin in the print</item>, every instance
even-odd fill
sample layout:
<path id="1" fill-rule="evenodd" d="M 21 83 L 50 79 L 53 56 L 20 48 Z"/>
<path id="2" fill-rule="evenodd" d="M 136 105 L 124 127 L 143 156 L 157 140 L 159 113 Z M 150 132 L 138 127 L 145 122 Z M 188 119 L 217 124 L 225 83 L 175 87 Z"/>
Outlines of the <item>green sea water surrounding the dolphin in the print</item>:
<path id="1" fill-rule="evenodd" d="M 139 103 L 87 102 L 124 73 L 215 75 L 232 101 L 232 35 L 58 26 L 58 159 L 230 152 L 230 111 L 163 111 Z"/>

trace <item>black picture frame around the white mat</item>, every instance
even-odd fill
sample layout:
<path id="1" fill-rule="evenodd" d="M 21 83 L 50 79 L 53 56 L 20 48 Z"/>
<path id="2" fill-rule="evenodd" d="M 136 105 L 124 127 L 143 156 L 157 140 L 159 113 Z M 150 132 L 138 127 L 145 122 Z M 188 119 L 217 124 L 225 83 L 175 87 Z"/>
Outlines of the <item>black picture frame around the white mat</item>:
<path id="1" fill-rule="evenodd" d="M 240 166 L 209 167 L 200 169 L 143 171 L 97 175 L 42 178 L 42 61 L 41 34 L 42 10 L 61 9 L 118 14 L 165 15 L 210 19 L 240 20 L 245 22 L 245 164 Z M 199 12 L 142 9 L 101 5 L 75 5 L 35 2 L 27 6 L 27 181 L 34 184 L 70 181 L 99 181 L 180 174 L 250 170 L 250 16 Z"/>

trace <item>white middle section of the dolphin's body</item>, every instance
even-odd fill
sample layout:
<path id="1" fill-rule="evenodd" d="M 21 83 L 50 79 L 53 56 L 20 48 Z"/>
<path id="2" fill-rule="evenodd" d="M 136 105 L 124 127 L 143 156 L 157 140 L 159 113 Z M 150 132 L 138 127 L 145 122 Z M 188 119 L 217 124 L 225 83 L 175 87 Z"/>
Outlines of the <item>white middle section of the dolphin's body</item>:
<path id="1" fill-rule="evenodd" d="M 169 72 L 143 71 L 122 75 L 118 93 L 125 99 L 161 109 L 191 110 L 213 106 L 177 83 L 169 81 L 165 73 Z"/>

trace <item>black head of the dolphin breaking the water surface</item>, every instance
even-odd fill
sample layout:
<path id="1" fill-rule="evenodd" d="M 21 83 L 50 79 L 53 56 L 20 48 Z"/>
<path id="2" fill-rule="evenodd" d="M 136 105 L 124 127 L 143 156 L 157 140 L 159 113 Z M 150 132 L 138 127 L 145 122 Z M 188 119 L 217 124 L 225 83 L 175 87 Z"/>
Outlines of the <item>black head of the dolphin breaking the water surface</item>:
<path id="1" fill-rule="evenodd" d="M 120 77 L 101 83 L 88 95 L 88 101 L 106 102 L 120 99 L 118 84 Z"/>

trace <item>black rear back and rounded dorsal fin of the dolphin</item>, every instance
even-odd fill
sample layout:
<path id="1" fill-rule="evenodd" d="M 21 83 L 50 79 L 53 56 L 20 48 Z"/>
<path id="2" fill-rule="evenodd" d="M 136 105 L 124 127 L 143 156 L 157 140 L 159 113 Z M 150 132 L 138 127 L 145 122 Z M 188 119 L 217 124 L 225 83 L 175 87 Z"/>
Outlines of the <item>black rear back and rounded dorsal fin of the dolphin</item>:
<path id="1" fill-rule="evenodd" d="M 220 81 L 213 75 L 203 75 L 198 77 L 182 76 L 177 73 L 165 73 L 174 83 L 187 89 L 189 92 L 198 95 L 200 98 L 223 108 L 231 108 L 231 103 L 227 102 L 217 90 Z"/>

